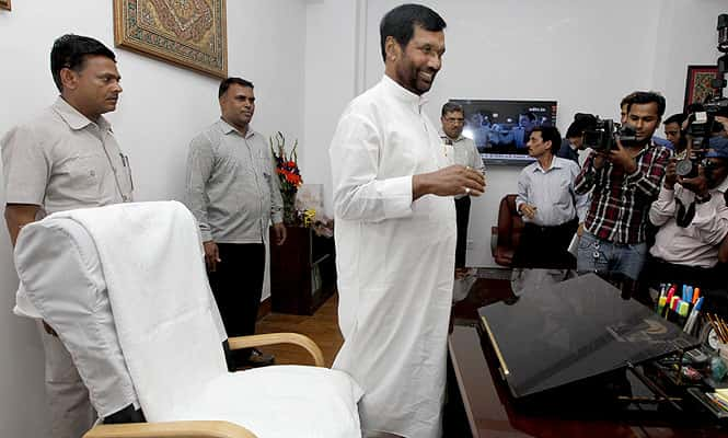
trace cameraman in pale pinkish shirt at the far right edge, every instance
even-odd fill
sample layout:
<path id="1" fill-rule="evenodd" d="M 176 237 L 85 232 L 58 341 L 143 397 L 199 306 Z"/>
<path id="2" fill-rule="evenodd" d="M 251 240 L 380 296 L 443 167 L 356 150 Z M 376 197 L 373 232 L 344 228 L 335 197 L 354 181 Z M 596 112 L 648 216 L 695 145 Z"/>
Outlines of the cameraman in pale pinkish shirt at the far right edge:
<path id="1" fill-rule="evenodd" d="M 713 137 L 697 169 L 697 176 L 685 178 L 675 173 L 674 159 L 668 164 L 665 184 L 649 209 L 650 222 L 660 227 L 645 269 L 649 284 L 712 288 L 721 281 L 715 266 L 728 235 L 728 139 Z"/>

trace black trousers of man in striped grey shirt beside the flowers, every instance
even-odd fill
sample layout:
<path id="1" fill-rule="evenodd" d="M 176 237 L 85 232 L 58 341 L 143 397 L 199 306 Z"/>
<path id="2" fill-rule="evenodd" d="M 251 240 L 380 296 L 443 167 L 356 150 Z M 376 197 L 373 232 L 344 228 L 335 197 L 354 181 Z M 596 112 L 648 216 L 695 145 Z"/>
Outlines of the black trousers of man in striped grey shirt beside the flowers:
<path id="1" fill-rule="evenodd" d="M 218 243 L 220 260 L 217 270 L 207 273 L 228 336 L 255 334 L 263 274 L 265 245 L 263 243 Z M 240 356 L 247 357 L 250 350 Z"/>

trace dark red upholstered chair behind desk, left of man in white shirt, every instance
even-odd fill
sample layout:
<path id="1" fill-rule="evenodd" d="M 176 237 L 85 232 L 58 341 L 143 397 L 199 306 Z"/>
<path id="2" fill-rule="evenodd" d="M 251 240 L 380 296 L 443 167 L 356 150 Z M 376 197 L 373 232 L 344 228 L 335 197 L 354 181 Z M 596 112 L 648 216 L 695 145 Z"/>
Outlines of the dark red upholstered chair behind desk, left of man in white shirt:
<path id="1" fill-rule="evenodd" d="M 516 211 L 516 195 L 506 195 L 500 199 L 498 226 L 492 227 L 490 231 L 493 258 L 497 264 L 510 267 L 523 231 L 523 220 Z"/>

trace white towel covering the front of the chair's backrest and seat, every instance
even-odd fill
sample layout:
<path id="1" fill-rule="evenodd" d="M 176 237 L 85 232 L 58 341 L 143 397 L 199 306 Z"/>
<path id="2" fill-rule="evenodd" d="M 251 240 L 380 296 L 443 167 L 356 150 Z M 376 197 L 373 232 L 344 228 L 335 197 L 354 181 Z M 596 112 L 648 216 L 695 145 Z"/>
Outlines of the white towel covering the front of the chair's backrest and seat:
<path id="1" fill-rule="evenodd" d="M 148 420 L 224 419 L 261 438 L 360 437 L 362 390 L 343 371 L 274 366 L 228 372 L 197 223 L 183 205 L 124 204 L 53 216 L 83 227 L 96 245 Z"/>

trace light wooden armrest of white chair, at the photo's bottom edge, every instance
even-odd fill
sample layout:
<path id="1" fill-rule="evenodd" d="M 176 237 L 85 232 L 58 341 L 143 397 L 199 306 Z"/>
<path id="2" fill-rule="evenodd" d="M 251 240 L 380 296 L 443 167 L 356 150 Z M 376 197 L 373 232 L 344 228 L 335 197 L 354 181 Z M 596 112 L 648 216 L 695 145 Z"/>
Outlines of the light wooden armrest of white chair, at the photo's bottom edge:
<path id="1" fill-rule="evenodd" d="M 99 425 L 83 438 L 256 438 L 230 422 L 169 422 Z"/>

